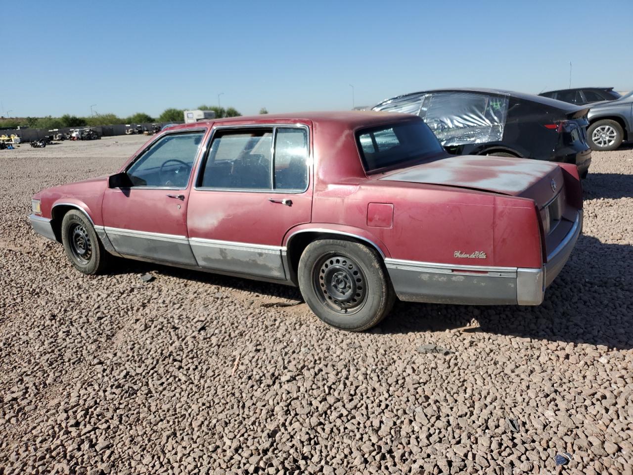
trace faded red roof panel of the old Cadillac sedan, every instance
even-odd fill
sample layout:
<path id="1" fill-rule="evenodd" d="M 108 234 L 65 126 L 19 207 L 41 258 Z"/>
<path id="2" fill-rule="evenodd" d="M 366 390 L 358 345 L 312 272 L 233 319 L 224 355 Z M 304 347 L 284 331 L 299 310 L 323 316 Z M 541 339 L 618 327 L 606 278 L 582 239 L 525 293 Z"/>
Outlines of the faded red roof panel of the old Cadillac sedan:
<path id="1" fill-rule="evenodd" d="M 322 112 L 292 112 L 284 114 L 263 114 L 263 115 L 246 115 L 239 117 L 225 117 L 218 119 L 201 120 L 192 122 L 191 124 L 180 124 L 173 127 L 172 130 L 191 129 L 200 127 L 201 125 L 223 125 L 223 124 L 240 124 L 246 122 L 249 124 L 274 124 L 275 122 L 306 122 L 313 124 L 319 123 L 337 123 L 346 129 L 357 129 L 358 127 L 372 127 L 372 125 L 380 125 L 388 122 L 397 122 L 402 120 L 415 120 L 417 115 L 403 114 L 399 112 L 381 112 L 381 111 L 322 111 Z"/>

